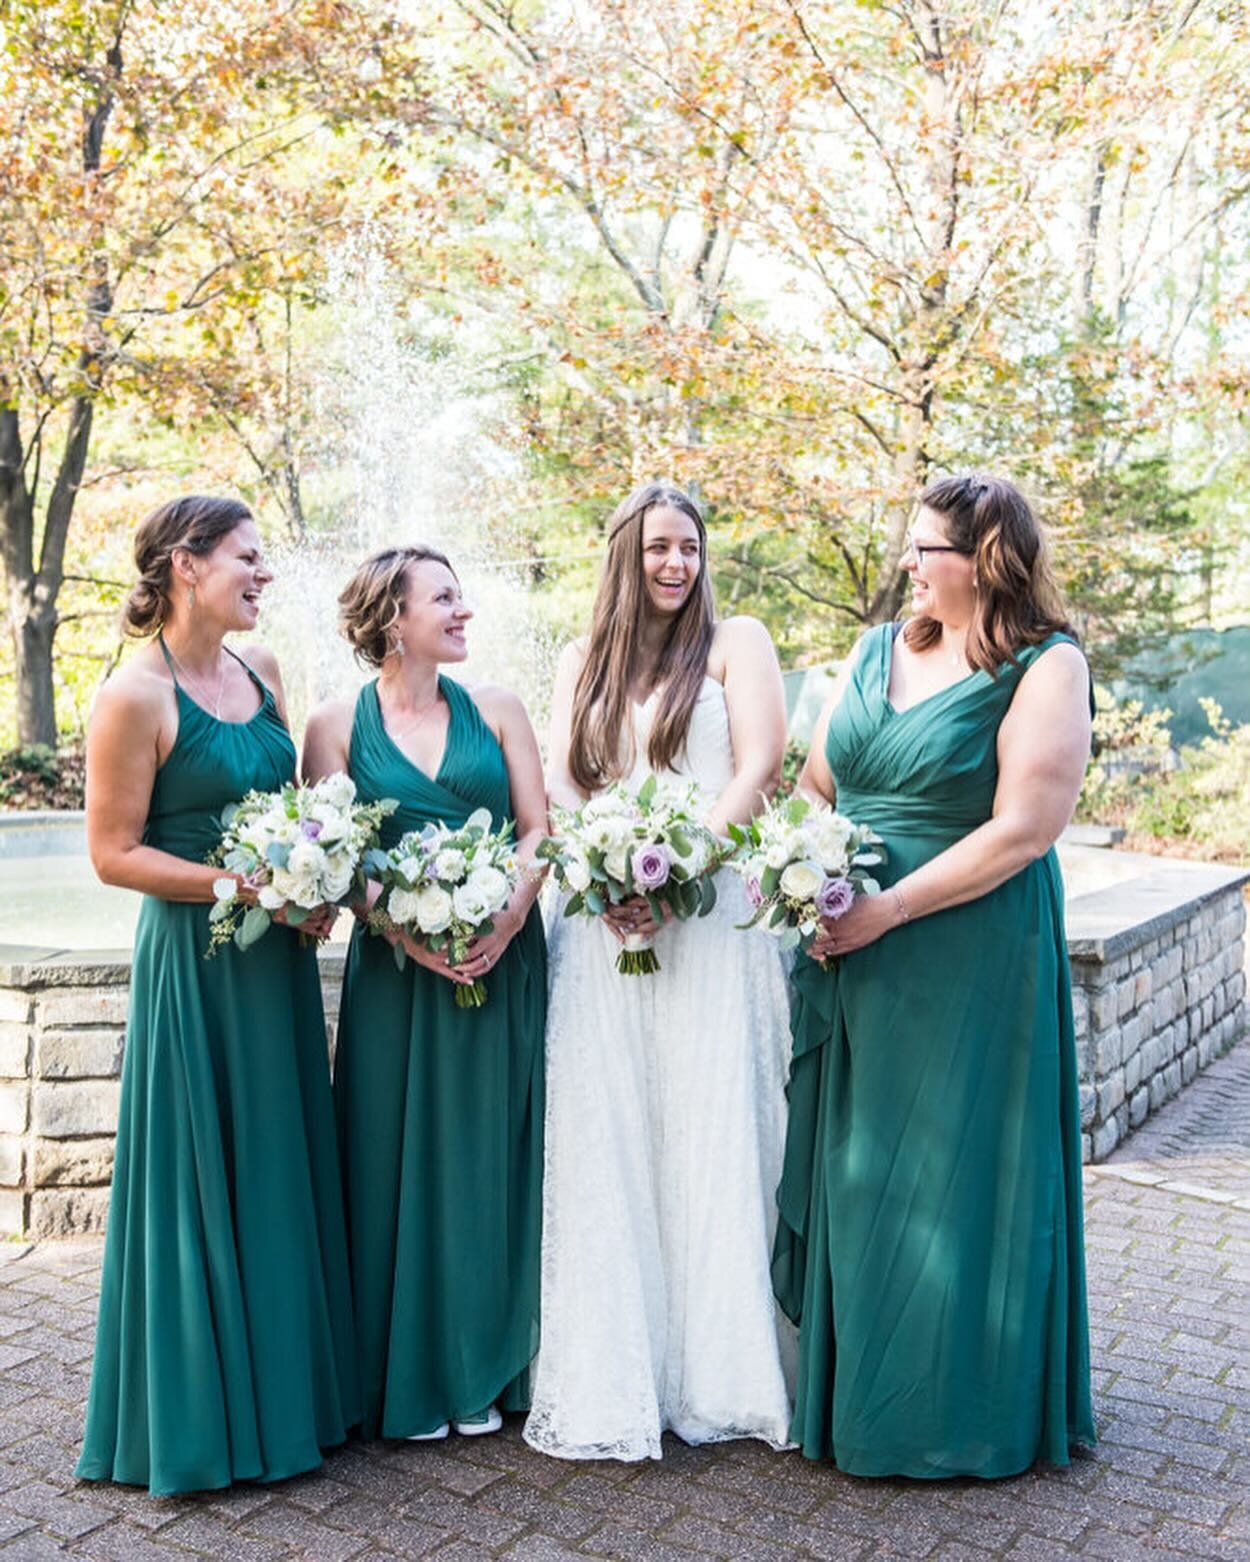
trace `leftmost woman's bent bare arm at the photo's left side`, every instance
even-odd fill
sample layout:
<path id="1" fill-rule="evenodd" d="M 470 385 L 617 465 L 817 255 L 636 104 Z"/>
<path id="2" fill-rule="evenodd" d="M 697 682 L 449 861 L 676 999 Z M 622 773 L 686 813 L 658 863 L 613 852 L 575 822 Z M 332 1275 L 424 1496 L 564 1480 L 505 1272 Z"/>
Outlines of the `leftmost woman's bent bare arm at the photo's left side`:
<path id="1" fill-rule="evenodd" d="M 103 884 L 159 900 L 211 901 L 222 868 L 142 843 L 161 764 L 166 694 L 158 678 L 136 667 L 95 698 L 86 753 L 88 853 Z"/>

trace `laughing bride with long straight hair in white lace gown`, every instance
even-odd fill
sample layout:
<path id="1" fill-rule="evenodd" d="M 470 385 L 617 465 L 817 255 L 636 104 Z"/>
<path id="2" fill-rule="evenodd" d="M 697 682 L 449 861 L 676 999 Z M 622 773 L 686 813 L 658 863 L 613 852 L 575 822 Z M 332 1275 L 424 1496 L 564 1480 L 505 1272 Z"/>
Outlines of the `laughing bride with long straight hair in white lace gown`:
<path id="1" fill-rule="evenodd" d="M 552 700 L 550 795 L 694 779 L 717 834 L 775 787 L 777 654 L 755 619 L 714 617 L 697 505 L 650 483 L 616 511 L 589 636 Z M 786 1445 L 789 1396 L 769 1253 L 789 1050 L 773 943 L 734 929 L 722 872 L 703 920 L 556 915 L 550 939 L 542 1342 L 525 1439 L 566 1459 L 658 1459 L 689 1443 Z M 616 972 L 652 934 L 661 970 Z M 789 1343 L 786 1340 L 786 1343 Z"/>

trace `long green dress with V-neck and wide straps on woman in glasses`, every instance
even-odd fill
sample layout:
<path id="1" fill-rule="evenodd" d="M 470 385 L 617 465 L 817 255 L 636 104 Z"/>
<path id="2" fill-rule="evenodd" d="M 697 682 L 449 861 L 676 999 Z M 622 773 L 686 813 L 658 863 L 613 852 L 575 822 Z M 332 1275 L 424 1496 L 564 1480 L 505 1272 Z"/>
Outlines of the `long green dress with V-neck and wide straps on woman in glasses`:
<path id="1" fill-rule="evenodd" d="M 998 723 L 1062 639 L 895 711 L 897 633 L 864 637 L 827 742 L 884 884 L 991 817 Z M 833 972 L 798 961 L 773 1282 L 809 1459 L 1006 1476 L 1094 1442 L 1062 904 L 1047 851 Z"/>

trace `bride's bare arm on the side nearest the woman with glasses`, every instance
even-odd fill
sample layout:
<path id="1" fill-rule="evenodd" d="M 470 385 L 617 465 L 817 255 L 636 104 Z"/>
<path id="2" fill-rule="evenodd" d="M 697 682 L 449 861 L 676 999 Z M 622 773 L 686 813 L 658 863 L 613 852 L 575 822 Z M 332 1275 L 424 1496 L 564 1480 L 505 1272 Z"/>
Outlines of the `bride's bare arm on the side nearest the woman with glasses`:
<path id="1" fill-rule="evenodd" d="M 725 658 L 733 779 L 717 797 L 708 828 L 723 836 L 772 797 L 786 751 L 786 692 L 769 631 L 758 619 L 728 619 L 717 631 Z"/>

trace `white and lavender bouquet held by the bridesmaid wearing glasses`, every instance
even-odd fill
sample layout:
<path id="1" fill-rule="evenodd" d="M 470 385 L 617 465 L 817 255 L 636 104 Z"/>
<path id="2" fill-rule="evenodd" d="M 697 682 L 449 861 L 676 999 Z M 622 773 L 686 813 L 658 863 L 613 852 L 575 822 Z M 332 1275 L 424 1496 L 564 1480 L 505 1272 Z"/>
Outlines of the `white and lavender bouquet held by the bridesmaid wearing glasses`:
<path id="1" fill-rule="evenodd" d="M 886 861 L 881 837 L 805 797 L 767 803 L 750 823 L 730 825 L 730 837 L 738 847 L 730 867 L 755 908 L 739 926 L 762 926 L 784 950 L 806 950 L 822 920 L 836 922 L 856 895 L 881 890 L 869 873 Z"/>

